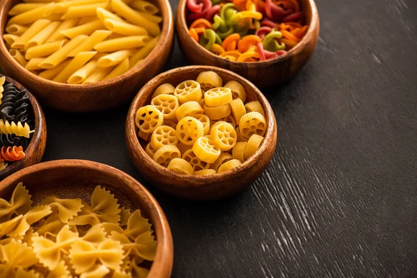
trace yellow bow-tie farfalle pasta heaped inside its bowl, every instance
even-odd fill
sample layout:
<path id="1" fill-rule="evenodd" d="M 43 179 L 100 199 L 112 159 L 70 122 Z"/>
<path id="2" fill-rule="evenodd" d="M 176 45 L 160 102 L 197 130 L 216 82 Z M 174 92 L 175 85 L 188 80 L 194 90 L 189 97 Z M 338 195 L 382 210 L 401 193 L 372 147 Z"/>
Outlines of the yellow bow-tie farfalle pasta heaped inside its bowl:
<path id="1" fill-rule="evenodd" d="M 156 256 L 149 220 L 101 186 L 90 204 L 50 195 L 33 206 L 19 183 L 0 199 L 0 236 L 0 278 L 145 278 Z"/>

